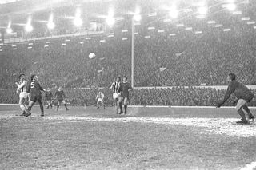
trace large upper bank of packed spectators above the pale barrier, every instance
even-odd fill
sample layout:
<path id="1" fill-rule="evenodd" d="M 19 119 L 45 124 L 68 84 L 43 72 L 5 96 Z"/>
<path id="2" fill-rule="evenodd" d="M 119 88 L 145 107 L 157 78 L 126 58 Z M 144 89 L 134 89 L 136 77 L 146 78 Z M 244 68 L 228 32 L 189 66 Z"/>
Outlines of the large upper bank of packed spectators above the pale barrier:
<path id="1" fill-rule="evenodd" d="M 238 75 L 246 85 L 256 84 L 254 34 L 235 36 L 225 33 L 202 35 L 151 33 L 135 37 L 134 85 L 182 86 L 225 85 L 226 75 Z M 0 88 L 14 87 L 19 73 L 37 73 L 42 85 L 66 88 L 107 87 L 117 75 L 130 77 L 131 48 L 121 35 L 114 38 L 62 38 L 6 46 L 0 52 Z M 183 36 L 183 37 L 182 37 Z M 100 42 L 100 40 L 106 42 Z M 81 43 L 82 42 L 82 43 Z M 62 45 L 65 43 L 66 45 Z M 48 45 L 44 47 L 44 45 Z M 89 59 L 89 53 L 96 58 Z"/>

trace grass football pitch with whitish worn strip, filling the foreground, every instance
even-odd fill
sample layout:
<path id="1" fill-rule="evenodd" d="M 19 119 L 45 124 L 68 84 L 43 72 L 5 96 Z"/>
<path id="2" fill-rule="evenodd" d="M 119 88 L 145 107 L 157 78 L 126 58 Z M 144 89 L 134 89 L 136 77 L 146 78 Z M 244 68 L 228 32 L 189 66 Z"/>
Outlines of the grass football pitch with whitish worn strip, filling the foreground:
<path id="1" fill-rule="evenodd" d="M 256 109 L 251 109 L 254 116 Z M 234 109 L 0 106 L 1 169 L 256 169 L 256 123 Z"/>

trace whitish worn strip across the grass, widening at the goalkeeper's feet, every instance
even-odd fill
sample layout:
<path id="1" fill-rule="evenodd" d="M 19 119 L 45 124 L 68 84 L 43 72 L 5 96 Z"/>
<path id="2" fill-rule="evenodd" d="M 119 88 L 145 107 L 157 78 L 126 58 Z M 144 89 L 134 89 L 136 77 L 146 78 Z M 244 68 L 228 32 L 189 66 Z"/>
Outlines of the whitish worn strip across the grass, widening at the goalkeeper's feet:
<path id="1" fill-rule="evenodd" d="M 10 119 L 17 116 L 10 114 L 0 114 L 0 119 Z M 36 117 L 35 117 L 36 118 Z M 250 121 L 250 125 L 237 125 L 236 118 L 173 118 L 173 117 L 74 117 L 74 116 L 50 116 L 42 117 L 43 120 L 59 120 L 66 122 L 81 121 L 108 121 L 121 123 L 145 123 L 158 125 L 187 125 L 191 127 L 203 128 L 203 133 L 220 134 L 223 136 L 255 137 L 256 125 Z M 65 122 L 66 121 L 66 122 Z M 47 122 L 53 123 L 54 122 Z M 59 122 L 62 123 L 62 122 Z M 56 122 L 57 124 L 57 122 Z"/>

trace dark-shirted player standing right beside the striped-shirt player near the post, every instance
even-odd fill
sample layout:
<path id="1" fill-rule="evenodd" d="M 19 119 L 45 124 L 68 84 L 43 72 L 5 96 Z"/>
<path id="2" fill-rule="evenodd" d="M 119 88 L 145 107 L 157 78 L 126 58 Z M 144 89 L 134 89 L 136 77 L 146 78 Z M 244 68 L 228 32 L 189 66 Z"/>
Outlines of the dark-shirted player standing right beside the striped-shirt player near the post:
<path id="1" fill-rule="evenodd" d="M 123 105 L 125 108 L 125 114 L 127 113 L 127 104 L 129 101 L 129 91 L 130 90 L 132 90 L 132 87 L 131 87 L 130 83 L 127 81 L 127 77 L 126 76 L 122 77 L 121 97 L 122 97 Z M 120 107 L 122 107 L 122 105 Z M 122 112 L 120 114 L 122 114 Z"/>

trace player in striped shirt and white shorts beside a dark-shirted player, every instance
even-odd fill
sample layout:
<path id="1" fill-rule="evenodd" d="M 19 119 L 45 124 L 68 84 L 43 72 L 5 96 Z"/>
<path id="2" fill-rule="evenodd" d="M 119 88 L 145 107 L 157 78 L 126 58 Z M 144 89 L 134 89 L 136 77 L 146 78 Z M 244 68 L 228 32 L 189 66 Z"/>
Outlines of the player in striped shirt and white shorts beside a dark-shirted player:
<path id="1" fill-rule="evenodd" d="M 118 114 L 118 108 L 120 108 L 122 113 L 122 98 L 121 98 L 121 78 L 116 77 L 116 80 L 112 83 L 111 89 L 113 90 L 113 99 L 115 103 L 115 107 Z"/>

